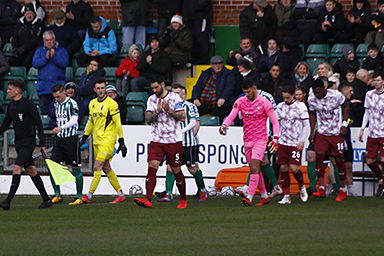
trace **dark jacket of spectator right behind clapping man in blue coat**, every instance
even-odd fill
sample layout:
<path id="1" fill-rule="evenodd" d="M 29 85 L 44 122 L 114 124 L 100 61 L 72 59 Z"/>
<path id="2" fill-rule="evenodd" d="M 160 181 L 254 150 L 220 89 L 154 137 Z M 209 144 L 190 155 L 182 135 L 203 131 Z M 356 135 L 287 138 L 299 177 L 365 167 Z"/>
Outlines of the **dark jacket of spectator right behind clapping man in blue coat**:
<path id="1" fill-rule="evenodd" d="M 76 29 L 68 22 L 65 22 L 61 27 L 58 27 L 56 24 L 52 25 L 48 27 L 48 30 L 52 30 L 55 33 L 56 41 L 60 46 L 67 49 L 70 56 L 81 48 L 81 39 Z"/>

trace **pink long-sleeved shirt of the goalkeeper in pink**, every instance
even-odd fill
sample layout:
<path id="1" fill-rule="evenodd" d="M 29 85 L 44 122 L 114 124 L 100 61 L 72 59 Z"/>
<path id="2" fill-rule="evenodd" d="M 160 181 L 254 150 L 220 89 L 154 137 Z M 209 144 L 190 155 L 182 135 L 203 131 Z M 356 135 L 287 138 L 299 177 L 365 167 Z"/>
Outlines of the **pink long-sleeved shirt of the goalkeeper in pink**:
<path id="1" fill-rule="evenodd" d="M 250 101 L 246 96 L 238 98 L 235 104 L 233 104 L 231 113 L 224 120 L 223 124 L 230 126 L 239 111 L 241 112 L 244 122 L 243 129 L 245 147 L 252 147 L 258 140 L 268 140 L 268 118 L 273 126 L 273 135 L 278 136 L 279 122 L 277 121 L 271 102 L 265 97 L 257 95 L 253 101 Z"/>

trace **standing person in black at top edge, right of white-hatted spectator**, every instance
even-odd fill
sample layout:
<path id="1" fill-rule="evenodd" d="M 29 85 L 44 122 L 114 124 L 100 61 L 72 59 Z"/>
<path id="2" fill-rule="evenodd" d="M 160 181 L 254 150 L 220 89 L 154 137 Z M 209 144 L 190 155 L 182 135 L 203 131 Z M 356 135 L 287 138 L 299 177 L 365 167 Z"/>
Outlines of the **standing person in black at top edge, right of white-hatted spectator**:
<path id="1" fill-rule="evenodd" d="M 183 1 L 182 15 L 192 33 L 192 63 L 205 64 L 209 55 L 211 0 Z"/>

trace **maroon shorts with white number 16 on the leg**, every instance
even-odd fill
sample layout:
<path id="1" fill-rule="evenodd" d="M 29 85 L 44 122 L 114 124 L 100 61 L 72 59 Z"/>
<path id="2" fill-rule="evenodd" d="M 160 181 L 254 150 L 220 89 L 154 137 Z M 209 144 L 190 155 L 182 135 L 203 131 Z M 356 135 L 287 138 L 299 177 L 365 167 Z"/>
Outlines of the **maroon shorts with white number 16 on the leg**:
<path id="1" fill-rule="evenodd" d="M 344 157 L 344 137 L 325 136 L 317 133 L 315 138 L 315 151 L 328 153 L 334 157 Z"/>

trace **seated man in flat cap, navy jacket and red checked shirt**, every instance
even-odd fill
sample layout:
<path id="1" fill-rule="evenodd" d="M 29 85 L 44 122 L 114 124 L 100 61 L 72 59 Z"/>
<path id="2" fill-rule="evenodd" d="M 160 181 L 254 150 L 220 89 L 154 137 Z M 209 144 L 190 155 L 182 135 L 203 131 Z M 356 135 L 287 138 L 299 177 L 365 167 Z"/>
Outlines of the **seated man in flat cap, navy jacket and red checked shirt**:
<path id="1" fill-rule="evenodd" d="M 235 90 L 235 74 L 224 67 L 221 56 L 213 56 L 211 68 L 201 73 L 193 87 L 191 100 L 200 116 L 212 114 L 222 122 L 231 111 Z"/>

